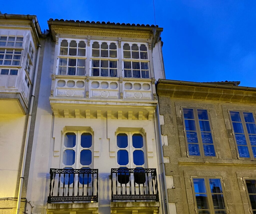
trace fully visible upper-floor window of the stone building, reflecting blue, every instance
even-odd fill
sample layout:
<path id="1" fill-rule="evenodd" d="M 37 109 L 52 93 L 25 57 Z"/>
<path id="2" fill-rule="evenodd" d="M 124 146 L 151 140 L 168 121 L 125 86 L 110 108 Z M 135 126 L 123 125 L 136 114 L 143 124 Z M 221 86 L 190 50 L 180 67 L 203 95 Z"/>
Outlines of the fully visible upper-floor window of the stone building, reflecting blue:
<path id="1" fill-rule="evenodd" d="M 183 108 L 183 120 L 189 156 L 216 157 L 207 110 Z"/>

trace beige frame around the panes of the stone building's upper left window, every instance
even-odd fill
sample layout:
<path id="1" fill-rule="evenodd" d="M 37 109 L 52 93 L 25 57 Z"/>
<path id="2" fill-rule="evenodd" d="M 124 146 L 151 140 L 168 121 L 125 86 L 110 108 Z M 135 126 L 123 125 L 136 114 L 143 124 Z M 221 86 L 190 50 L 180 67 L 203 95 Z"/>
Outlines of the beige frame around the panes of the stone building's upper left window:
<path id="1" fill-rule="evenodd" d="M 194 106 L 194 105 L 193 105 L 193 106 Z M 201 131 L 199 130 L 200 127 L 199 127 L 198 116 L 197 116 L 196 110 L 197 110 L 197 109 L 204 109 L 204 110 L 207 110 L 208 119 L 209 119 L 209 123 L 210 123 L 211 134 L 212 134 L 212 141 L 213 141 L 214 150 L 215 150 L 215 156 L 205 156 L 203 149 L 201 149 L 201 151 L 200 151 L 200 152 L 201 152 L 200 156 L 190 156 L 190 155 L 189 155 L 189 151 L 188 151 L 188 142 L 187 142 L 186 131 L 185 131 L 184 114 L 183 114 L 183 109 L 184 109 L 184 108 L 190 108 L 190 109 L 193 109 L 193 111 L 194 111 L 194 115 L 196 116 L 196 117 L 195 117 L 195 122 L 196 122 L 196 124 L 198 124 L 198 125 L 197 125 L 198 129 L 196 130 L 196 132 L 197 132 L 197 138 L 198 138 L 198 141 L 199 141 L 199 142 L 198 142 L 198 143 L 199 143 L 199 147 L 201 147 L 201 148 L 202 148 L 203 143 L 201 142 L 200 137 L 199 137 Z M 185 142 L 186 142 L 187 157 L 218 158 L 218 153 L 217 153 L 217 151 L 216 151 L 216 143 L 215 143 L 215 139 L 214 139 L 214 133 L 213 133 L 213 129 L 212 129 L 212 123 L 211 123 L 211 117 L 210 117 L 209 108 L 191 107 L 191 106 L 185 106 L 185 105 L 183 105 L 183 106 L 180 106 L 180 110 L 181 110 L 182 122 L 183 122 L 183 127 L 184 127 L 183 132 L 184 132 L 184 137 L 185 137 Z"/>

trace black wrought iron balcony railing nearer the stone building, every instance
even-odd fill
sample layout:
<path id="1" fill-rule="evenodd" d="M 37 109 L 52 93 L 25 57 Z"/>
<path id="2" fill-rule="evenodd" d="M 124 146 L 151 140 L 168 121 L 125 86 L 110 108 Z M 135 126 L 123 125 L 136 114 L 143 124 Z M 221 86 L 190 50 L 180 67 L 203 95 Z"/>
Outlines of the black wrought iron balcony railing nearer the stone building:
<path id="1" fill-rule="evenodd" d="M 111 169 L 111 201 L 159 201 L 156 169 Z"/>

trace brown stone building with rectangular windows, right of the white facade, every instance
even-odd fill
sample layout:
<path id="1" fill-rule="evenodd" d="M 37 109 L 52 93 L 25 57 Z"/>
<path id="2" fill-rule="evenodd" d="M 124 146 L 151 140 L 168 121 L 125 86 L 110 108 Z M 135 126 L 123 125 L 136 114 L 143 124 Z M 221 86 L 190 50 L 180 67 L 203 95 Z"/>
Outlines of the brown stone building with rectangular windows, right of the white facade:
<path id="1" fill-rule="evenodd" d="M 256 89 L 239 83 L 158 80 L 170 213 L 256 213 Z"/>

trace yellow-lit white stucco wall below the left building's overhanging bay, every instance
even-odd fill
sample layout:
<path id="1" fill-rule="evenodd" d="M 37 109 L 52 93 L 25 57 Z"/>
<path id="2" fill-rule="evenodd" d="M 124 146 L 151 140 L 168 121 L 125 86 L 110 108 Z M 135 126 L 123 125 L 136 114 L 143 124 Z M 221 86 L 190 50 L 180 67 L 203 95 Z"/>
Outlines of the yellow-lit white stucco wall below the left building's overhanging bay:
<path id="1" fill-rule="evenodd" d="M 0 198 L 15 197 L 25 116 L 0 114 Z"/>

